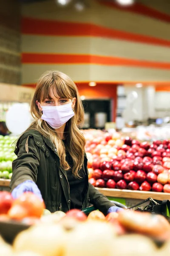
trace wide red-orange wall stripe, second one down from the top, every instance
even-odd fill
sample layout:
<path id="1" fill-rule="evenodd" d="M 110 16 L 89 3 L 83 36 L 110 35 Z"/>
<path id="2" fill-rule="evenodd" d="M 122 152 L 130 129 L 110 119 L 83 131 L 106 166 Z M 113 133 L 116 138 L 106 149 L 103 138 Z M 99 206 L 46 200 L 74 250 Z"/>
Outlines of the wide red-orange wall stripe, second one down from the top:
<path id="1" fill-rule="evenodd" d="M 170 41 L 168 40 L 109 29 L 88 23 L 72 23 L 23 17 L 21 31 L 27 35 L 94 36 L 170 47 Z"/>

